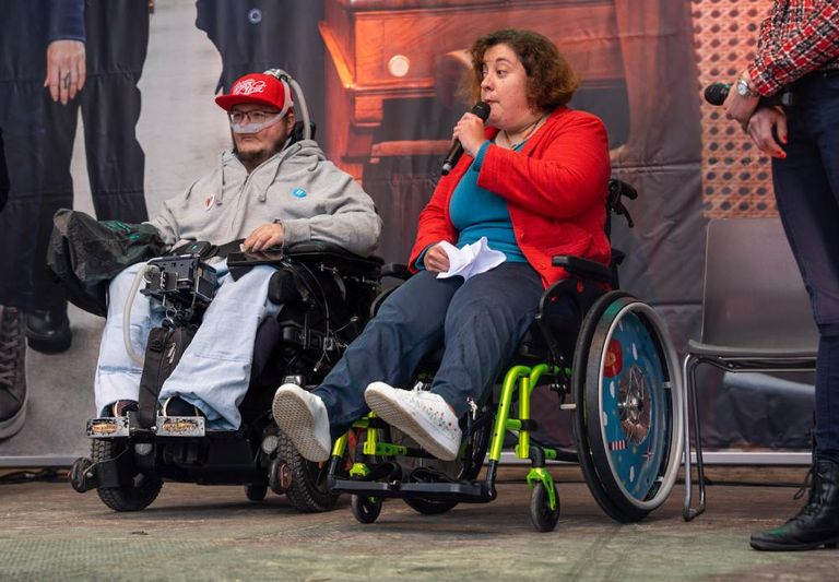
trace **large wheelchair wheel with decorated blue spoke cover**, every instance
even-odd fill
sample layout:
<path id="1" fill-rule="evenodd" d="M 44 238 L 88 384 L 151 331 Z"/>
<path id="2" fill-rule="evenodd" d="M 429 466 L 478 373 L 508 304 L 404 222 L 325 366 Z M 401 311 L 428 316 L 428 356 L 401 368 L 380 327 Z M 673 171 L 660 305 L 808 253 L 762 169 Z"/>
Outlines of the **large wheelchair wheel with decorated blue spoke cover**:
<path id="1" fill-rule="evenodd" d="M 589 310 L 574 355 L 575 427 L 586 482 L 621 522 L 670 495 L 682 454 L 682 379 L 665 324 L 652 308 L 611 292 Z"/>

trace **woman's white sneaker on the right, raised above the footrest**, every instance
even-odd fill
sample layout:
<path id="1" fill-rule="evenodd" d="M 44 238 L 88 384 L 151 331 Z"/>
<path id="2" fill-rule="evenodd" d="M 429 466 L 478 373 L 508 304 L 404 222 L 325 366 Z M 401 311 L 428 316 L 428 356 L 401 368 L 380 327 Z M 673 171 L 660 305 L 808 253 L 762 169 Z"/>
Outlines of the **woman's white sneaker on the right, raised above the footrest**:
<path id="1" fill-rule="evenodd" d="M 453 461 L 458 458 L 463 433 L 458 417 L 439 394 L 373 382 L 365 390 L 364 400 L 382 420 L 403 431 L 437 459 Z"/>

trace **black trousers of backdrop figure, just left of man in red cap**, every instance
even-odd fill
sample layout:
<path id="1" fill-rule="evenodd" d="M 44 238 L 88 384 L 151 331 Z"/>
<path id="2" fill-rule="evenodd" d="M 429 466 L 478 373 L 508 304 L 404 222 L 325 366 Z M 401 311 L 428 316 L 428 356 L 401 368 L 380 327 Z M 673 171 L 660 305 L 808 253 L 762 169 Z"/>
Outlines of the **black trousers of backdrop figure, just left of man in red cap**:
<path id="1" fill-rule="evenodd" d="M 87 81 L 67 105 L 47 97 L 44 194 L 33 263 L 34 309 L 63 309 L 64 297 L 46 271 L 52 215 L 72 207 L 70 165 L 79 111 L 96 217 L 141 223 L 149 218 L 145 154 L 137 141 L 140 90 L 149 45 L 147 0 L 86 0 Z"/>

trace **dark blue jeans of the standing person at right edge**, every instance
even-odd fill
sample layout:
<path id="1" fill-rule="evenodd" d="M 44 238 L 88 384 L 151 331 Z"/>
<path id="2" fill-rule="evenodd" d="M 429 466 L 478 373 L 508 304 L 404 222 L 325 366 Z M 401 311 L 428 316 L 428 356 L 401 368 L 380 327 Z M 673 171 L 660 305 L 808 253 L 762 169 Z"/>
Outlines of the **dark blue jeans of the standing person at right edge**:
<path id="1" fill-rule="evenodd" d="M 839 462 L 839 72 L 791 88 L 787 158 L 772 158 L 772 181 L 820 333 L 816 454 Z"/>

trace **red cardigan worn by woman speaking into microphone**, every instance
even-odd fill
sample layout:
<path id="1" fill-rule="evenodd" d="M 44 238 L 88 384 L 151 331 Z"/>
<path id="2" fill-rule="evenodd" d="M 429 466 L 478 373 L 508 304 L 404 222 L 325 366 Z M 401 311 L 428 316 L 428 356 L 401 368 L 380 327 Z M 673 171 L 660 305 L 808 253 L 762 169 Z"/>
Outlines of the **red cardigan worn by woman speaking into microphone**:
<path id="1" fill-rule="evenodd" d="M 487 128 L 487 139 L 498 133 Z M 458 233 L 449 217 L 449 201 L 472 156 L 463 154 L 434 190 L 420 214 L 410 269 L 429 246 L 454 244 Z M 611 167 L 603 122 L 591 114 L 558 107 L 527 141 L 520 152 L 489 144 L 477 185 L 507 201 L 516 241 L 524 258 L 547 287 L 566 276 L 551 265 L 555 254 L 574 254 L 610 262 L 610 244 L 603 228 Z"/>

